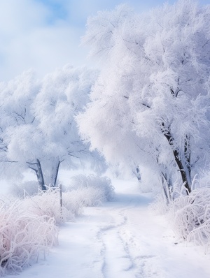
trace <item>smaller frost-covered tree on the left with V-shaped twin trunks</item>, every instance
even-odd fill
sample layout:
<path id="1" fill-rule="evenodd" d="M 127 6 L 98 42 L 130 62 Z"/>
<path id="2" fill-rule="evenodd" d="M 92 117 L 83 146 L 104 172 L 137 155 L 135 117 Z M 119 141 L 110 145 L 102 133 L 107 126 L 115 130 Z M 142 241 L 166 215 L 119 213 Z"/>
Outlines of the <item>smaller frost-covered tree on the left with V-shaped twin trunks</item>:
<path id="1" fill-rule="evenodd" d="M 78 136 L 74 116 L 87 103 L 97 72 L 64 66 L 40 82 L 23 73 L 1 84 L 1 161 L 36 172 L 42 189 L 55 186 L 60 163 L 97 160 Z M 102 164 L 102 163 L 101 163 Z"/>

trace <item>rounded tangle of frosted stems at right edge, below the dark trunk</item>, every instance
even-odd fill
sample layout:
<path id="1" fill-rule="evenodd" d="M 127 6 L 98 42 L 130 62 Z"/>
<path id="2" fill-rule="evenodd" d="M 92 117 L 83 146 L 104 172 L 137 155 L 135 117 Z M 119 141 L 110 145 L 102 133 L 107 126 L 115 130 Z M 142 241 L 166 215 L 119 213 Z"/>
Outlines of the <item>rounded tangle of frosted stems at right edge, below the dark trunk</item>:
<path id="1" fill-rule="evenodd" d="M 176 233 L 188 242 L 210 245 L 210 188 L 195 189 L 188 196 L 179 196 L 171 205 Z"/>

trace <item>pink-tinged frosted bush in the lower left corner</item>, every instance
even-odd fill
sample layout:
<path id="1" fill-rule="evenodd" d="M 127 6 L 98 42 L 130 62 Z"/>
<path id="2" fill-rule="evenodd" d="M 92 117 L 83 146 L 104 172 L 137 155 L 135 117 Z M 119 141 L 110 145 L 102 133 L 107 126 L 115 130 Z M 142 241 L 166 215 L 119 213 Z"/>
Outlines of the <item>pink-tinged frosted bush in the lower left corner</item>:
<path id="1" fill-rule="evenodd" d="M 21 272 L 52 245 L 57 227 L 52 217 L 23 210 L 21 200 L 0 204 L 0 276 Z"/>

